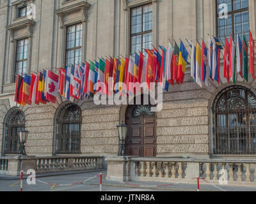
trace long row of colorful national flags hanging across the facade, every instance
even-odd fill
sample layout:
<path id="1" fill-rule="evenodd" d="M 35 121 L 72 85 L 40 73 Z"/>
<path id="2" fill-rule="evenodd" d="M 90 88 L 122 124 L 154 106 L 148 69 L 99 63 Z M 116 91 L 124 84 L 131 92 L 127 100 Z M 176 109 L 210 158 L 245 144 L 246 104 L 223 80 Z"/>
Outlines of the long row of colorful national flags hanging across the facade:
<path id="1" fill-rule="evenodd" d="M 187 40 L 188 41 L 188 40 Z M 208 86 L 209 78 L 220 84 L 220 52 L 223 50 L 220 40 L 209 37 L 209 48 L 202 41 L 191 47 L 191 77 L 197 84 Z M 182 84 L 188 64 L 188 51 L 180 40 L 180 47 L 175 42 L 174 47 L 169 43 L 168 48 L 159 46 L 153 50 L 145 50 L 147 57 L 140 54 L 130 57 L 109 57 L 99 59 L 99 62 L 70 64 L 65 68 L 57 68 L 58 73 L 45 69 L 24 77 L 17 75 L 15 101 L 22 106 L 35 103 L 56 103 L 58 92 L 67 98 L 84 100 L 93 97 L 97 92 L 111 96 L 113 92 L 136 94 L 134 84 L 143 84 L 150 91 L 150 83 L 160 83 L 165 91 L 170 85 Z M 250 32 L 250 73 L 254 74 L 255 45 Z M 228 82 L 236 83 L 237 73 L 248 81 L 248 44 L 246 36 L 243 41 L 237 34 L 235 44 L 230 36 L 225 38 L 223 77 Z M 109 80 L 112 79 L 112 80 Z M 133 83 L 133 84 L 132 84 Z M 132 84 L 132 85 L 130 85 Z"/>

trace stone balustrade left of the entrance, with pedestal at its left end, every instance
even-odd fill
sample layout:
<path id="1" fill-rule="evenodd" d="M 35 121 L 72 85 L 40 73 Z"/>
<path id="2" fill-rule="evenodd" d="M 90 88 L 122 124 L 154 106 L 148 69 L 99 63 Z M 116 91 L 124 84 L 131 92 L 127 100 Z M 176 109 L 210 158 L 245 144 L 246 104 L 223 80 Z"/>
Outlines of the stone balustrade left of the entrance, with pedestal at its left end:
<path id="1" fill-rule="evenodd" d="M 6 156 L 0 157 L 0 174 L 20 175 L 20 170 L 36 173 L 102 169 L 102 156 Z"/>

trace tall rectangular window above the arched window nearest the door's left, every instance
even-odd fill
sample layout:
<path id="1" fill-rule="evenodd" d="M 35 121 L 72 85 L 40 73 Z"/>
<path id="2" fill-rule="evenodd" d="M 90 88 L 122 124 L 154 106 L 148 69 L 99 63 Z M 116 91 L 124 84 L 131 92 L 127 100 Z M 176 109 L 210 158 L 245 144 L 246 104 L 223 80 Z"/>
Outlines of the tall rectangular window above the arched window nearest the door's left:
<path id="1" fill-rule="evenodd" d="M 82 33 L 82 24 L 67 27 L 66 64 L 78 64 L 82 61 Z"/>

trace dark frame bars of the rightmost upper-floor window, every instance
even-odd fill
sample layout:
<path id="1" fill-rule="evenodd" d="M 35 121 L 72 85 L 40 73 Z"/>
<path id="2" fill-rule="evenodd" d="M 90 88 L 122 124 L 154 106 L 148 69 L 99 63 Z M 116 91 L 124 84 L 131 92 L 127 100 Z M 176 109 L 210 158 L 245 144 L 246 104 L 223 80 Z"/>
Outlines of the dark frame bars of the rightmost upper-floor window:
<path id="1" fill-rule="evenodd" d="M 231 1 L 231 11 L 228 11 L 227 15 L 231 15 L 231 17 L 232 17 L 232 38 L 235 39 L 236 33 L 234 33 L 235 32 L 234 15 L 236 13 L 242 13 L 244 11 L 248 11 L 248 15 L 249 15 L 250 14 L 249 13 L 249 1 L 248 1 L 248 7 L 241 8 L 239 10 L 234 10 L 234 0 L 230 0 L 230 1 Z M 219 17 L 219 13 L 218 13 L 218 10 L 219 10 L 219 8 L 218 8 L 218 0 L 215 1 L 215 8 L 216 8 L 216 36 L 219 36 L 219 33 L 218 33 L 218 17 Z M 248 18 L 248 22 L 249 22 L 249 27 L 250 27 L 250 17 Z"/>

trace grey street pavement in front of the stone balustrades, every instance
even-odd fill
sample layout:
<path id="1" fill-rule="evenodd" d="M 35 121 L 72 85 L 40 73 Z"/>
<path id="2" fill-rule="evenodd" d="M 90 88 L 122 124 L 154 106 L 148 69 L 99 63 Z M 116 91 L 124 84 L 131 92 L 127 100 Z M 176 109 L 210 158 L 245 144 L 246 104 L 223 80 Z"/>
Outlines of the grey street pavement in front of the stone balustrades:
<path id="1" fill-rule="evenodd" d="M 28 185 L 24 179 L 23 191 L 99 191 L 99 173 L 103 175 L 102 191 L 197 191 L 196 184 L 106 180 L 106 170 L 37 177 L 35 185 Z M 200 191 L 256 191 L 256 187 L 222 186 L 200 182 Z M 0 180 L 0 191 L 20 191 L 20 180 Z"/>

